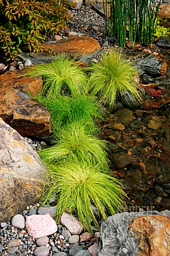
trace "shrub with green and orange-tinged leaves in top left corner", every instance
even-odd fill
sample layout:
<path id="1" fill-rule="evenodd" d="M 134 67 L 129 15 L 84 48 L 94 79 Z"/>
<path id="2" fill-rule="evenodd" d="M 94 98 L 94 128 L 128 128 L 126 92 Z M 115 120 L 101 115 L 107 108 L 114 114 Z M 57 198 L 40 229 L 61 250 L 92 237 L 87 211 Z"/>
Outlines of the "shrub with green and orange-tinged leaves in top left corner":
<path id="1" fill-rule="evenodd" d="M 23 46 L 30 52 L 49 51 L 40 43 L 71 19 L 63 0 L 1 0 L 0 4 L 0 49 L 8 60 L 16 60 Z"/>

